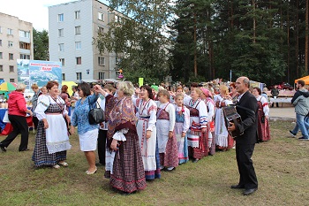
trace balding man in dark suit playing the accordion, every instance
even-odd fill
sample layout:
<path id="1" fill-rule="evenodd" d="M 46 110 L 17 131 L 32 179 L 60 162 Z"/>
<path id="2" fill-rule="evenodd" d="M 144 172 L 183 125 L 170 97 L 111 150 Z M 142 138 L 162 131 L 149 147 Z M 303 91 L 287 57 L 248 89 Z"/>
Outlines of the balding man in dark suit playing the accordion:
<path id="1" fill-rule="evenodd" d="M 239 77 L 236 81 L 236 90 L 240 94 L 237 101 L 237 113 L 243 122 L 235 126 L 230 123 L 228 130 L 235 131 L 236 137 L 236 158 L 239 183 L 231 188 L 245 188 L 243 195 L 251 195 L 258 189 L 258 179 L 256 178 L 252 164 L 252 154 L 255 143 L 258 142 L 257 135 L 257 115 L 258 103 L 254 95 L 249 92 L 250 80 L 247 77 Z"/>

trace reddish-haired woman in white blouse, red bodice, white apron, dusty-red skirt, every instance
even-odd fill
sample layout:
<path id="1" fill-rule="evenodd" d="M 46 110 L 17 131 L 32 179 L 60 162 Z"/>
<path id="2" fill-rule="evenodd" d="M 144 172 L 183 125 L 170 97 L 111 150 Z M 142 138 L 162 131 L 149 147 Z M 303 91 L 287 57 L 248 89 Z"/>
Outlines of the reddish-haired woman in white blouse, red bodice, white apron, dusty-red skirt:
<path id="1" fill-rule="evenodd" d="M 170 93 L 162 89 L 158 92 L 156 112 L 156 136 L 158 139 L 160 169 L 170 172 L 178 166 L 177 139 L 174 135 L 175 107 L 169 103 Z"/>

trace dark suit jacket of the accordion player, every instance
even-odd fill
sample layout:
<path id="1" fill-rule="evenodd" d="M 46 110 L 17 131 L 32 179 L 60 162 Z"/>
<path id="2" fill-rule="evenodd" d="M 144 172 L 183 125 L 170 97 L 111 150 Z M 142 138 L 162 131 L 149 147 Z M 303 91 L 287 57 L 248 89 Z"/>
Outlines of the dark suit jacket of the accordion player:
<path id="1" fill-rule="evenodd" d="M 237 105 L 245 107 L 249 110 L 245 110 L 237 107 L 237 112 L 241 116 L 243 122 L 238 124 L 236 130 L 238 135 L 235 140 L 237 144 L 255 144 L 258 142 L 257 134 L 257 119 L 258 119 L 258 103 L 254 95 L 249 91 L 241 97 Z M 254 112 L 252 112 L 254 111 Z"/>

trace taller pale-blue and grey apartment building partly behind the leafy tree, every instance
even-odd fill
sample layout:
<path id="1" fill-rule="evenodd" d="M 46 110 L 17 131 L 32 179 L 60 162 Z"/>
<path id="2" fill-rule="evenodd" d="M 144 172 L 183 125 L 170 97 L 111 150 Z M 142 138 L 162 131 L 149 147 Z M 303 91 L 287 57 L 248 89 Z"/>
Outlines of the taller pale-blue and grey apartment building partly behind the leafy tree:
<path id="1" fill-rule="evenodd" d="M 116 54 L 101 55 L 93 41 L 119 15 L 97 0 L 49 6 L 49 60 L 62 63 L 63 80 L 116 78 Z"/>

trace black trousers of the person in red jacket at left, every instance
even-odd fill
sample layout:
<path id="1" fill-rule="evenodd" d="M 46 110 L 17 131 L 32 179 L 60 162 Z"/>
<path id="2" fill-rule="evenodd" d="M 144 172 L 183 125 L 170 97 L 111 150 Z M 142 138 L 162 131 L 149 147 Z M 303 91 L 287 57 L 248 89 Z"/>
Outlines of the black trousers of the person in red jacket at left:
<path id="1" fill-rule="evenodd" d="M 13 131 L 1 143 L 7 148 L 11 144 L 11 141 L 17 135 L 21 134 L 19 151 L 26 150 L 28 148 L 28 125 L 26 123 L 26 117 L 9 114 L 9 120 L 11 121 L 11 126 L 13 126 Z"/>

